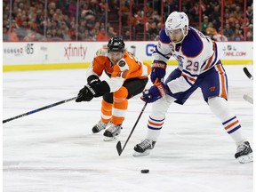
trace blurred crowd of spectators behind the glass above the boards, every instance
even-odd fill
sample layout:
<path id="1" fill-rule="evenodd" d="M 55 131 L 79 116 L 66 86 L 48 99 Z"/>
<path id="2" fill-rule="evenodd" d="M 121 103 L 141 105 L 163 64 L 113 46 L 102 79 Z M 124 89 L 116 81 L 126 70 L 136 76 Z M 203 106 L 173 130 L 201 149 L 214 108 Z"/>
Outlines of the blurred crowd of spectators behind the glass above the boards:
<path id="1" fill-rule="evenodd" d="M 179 11 L 180 6 L 188 14 L 190 26 L 215 41 L 253 40 L 250 0 L 246 0 L 245 14 L 244 0 L 225 0 L 222 23 L 221 1 L 216 0 L 202 0 L 201 4 L 182 0 L 181 5 L 180 0 L 152 0 L 147 4 L 144 0 L 133 0 L 132 4 L 129 0 L 11 2 L 3 0 L 4 41 L 106 41 L 112 36 L 122 36 L 124 40 L 157 40 L 164 20 L 171 12 Z"/>

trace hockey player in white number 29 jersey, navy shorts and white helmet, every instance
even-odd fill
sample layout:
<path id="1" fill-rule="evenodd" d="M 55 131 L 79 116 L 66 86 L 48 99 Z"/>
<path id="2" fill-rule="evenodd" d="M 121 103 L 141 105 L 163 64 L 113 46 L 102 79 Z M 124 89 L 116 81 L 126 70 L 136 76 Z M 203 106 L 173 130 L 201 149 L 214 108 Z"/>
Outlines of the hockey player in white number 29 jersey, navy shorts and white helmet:
<path id="1" fill-rule="evenodd" d="M 220 60 L 218 46 L 196 28 L 188 26 L 185 12 L 172 12 L 160 32 L 160 40 L 152 54 L 151 81 L 142 100 L 153 102 L 148 118 L 148 134 L 134 147 L 134 156 L 146 156 L 155 147 L 172 102 L 183 105 L 199 87 L 212 113 L 236 143 L 235 157 L 244 164 L 252 162 L 252 148 L 241 132 L 238 118 L 228 107 L 228 78 Z M 179 66 L 165 79 L 167 60 L 174 57 Z"/>

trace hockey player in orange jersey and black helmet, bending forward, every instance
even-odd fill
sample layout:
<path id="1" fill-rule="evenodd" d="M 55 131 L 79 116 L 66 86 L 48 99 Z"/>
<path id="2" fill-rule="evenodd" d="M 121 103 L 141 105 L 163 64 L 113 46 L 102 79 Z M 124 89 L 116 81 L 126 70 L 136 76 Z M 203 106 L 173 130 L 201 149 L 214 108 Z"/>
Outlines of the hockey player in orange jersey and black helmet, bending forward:
<path id="1" fill-rule="evenodd" d="M 112 37 L 108 41 L 108 49 L 96 52 L 92 66 L 87 71 L 87 83 L 79 91 L 76 102 L 90 101 L 94 97 L 103 96 L 101 101 L 101 118 L 92 127 L 92 132 L 104 132 L 104 140 L 116 140 L 124 122 L 128 100 L 141 93 L 148 83 L 151 67 L 135 58 L 124 49 L 124 41 Z M 103 71 L 109 76 L 100 81 Z"/>

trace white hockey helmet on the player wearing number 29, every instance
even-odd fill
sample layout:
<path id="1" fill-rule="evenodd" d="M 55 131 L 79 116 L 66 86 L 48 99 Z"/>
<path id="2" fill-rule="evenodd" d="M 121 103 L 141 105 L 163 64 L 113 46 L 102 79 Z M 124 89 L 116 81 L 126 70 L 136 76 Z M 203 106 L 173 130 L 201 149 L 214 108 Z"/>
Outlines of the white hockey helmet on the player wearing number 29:
<path id="1" fill-rule="evenodd" d="M 169 35 L 168 31 L 180 28 L 185 37 L 188 35 L 188 32 L 185 34 L 185 27 L 188 27 L 188 15 L 185 12 L 172 12 L 165 21 L 167 36 Z"/>

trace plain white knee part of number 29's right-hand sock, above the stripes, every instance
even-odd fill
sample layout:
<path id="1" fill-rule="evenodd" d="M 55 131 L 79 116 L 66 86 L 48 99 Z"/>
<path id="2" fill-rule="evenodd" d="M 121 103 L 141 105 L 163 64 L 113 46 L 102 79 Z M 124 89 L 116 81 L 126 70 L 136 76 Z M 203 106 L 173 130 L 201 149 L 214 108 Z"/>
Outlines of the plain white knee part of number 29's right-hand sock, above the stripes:
<path id="1" fill-rule="evenodd" d="M 225 121 L 232 116 L 228 101 L 220 97 L 212 97 L 208 99 L 208 105 L 215 116 L 218 116 L 221 121 Z"/>

